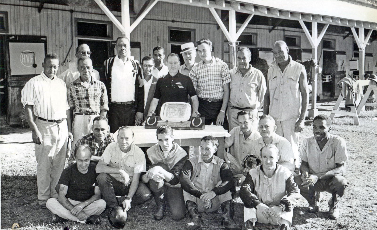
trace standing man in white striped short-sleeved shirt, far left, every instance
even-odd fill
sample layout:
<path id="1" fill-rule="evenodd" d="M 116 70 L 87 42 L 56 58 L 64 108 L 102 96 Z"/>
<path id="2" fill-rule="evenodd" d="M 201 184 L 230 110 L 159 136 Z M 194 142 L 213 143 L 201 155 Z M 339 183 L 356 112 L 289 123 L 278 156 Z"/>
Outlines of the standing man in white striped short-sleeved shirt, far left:
<path id="1" fill-rule="evenodd" d="M 48 53 L 42 67 L 40 75 L 26 82 L 21 103 L 35 143 L 38 203 L 46 208 L 49 198 L 58 197 L 55 186 L 64 169 L 68 136 L 72 138 L 72 133 L 68 132 L 66 121 L 70 119 L 67 86 L 55 75 L 59 68 L 58 55 Z"/>

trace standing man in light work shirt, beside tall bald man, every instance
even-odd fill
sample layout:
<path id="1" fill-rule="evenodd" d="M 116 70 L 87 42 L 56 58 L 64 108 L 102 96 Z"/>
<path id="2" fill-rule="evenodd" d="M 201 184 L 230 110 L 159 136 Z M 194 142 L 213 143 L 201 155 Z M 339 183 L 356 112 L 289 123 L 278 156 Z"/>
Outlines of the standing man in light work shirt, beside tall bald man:
<path id="1" fill-rule="evenodd" d="M 260 70 L 252 67 L 249 62 L 251 52 L 247 47 L 239 47 L 237 51 L 237 65 L 229 71 L 230 97 L 228 102 L 229 130 L 238 126 L 237 113 L 249 110 L 254 117 L 253 127 L 258 127 L 258 110 L 263 106 L 266 92 L 266 80 Z"/>

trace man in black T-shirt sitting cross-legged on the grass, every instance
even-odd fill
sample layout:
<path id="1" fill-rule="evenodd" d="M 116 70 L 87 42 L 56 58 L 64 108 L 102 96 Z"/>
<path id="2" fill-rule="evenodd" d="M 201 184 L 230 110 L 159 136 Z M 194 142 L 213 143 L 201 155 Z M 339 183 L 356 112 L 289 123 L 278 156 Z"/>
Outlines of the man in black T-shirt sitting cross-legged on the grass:
<path id="1" fill-rule="evenodd" d="M 61 173 L 58 198 L 50 198 L 46 207 L 54 213 L 53 223 L 69 219 L 86 224 L 101 224 L 98 215 L 106 209 L 106 202 L 101 200 L 95 165 L 90 164 L 92 154 L 89 146 L 77 146 L 74 156 L 76 163 Z"/>

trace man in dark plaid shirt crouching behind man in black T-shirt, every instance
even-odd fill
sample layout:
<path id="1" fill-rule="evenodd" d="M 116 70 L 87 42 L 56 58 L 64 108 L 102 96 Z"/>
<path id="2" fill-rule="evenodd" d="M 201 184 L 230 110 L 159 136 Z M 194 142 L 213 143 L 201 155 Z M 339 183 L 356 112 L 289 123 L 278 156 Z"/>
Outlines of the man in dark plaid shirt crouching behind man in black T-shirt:
<path id="1" fill-rule="evenodd" d="M 88 145 L 92 153 L 91 162 L 97 163 L 101 159 L 108 144 L 114 142 L 113 134 L 109 133 L 109 120 L 106 117 L 98 116 L 93 119 L 92 133 L 78 139 L 75 149 L 80 145 Z M 68 165 L 75 163 L 73 154 L 69 157 Z"/>

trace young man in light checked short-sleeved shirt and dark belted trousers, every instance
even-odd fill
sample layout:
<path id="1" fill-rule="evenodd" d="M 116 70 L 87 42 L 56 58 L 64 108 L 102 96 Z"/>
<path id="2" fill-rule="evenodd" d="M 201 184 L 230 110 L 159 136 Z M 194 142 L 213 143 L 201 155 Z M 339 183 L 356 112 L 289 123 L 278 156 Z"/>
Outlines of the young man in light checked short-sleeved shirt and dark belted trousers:
<path id="1" fill-rule="evenodd" d="M 199 98 L 198 112 L 205 117 L 205 125 L 222 125 L 228 130 L 225 110 L 229 101 L 231 82 L 228 65 L 212 56 L 212 42 L 203 38 L 196 41 L 202 59 L 194 66 L 189 77 Z"/>

